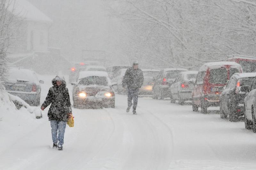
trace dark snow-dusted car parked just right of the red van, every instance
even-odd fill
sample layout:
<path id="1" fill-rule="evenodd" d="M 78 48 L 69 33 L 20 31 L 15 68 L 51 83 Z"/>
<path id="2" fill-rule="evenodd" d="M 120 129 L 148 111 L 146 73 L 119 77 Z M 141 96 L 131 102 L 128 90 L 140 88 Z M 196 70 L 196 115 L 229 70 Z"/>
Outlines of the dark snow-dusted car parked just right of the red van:
<path id="1" fill-rule="evenodd" d="M 235 73 L 230 77 L 227 86 L 220 95 L 220 117 L 230 121 L 237 121 L 238 117 L 244 116 L 244 98 L 251 87 L 256 73 Z"/>

